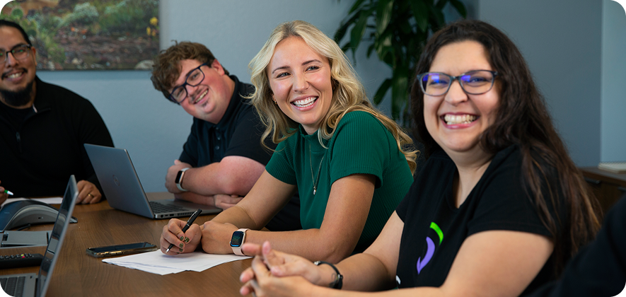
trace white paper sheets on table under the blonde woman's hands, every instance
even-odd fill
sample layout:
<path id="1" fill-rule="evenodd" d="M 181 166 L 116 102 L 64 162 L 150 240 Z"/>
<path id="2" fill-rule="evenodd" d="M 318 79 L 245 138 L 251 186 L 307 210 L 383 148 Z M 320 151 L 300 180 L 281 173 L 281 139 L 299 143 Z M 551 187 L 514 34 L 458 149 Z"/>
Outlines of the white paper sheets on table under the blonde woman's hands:
<path id="1" fill-rule="evenodd" d="M 244 260 L 250 257 L 238 255 L 212 255 L 204 252 L 190 252 L 175 256 L 163 254 L 161 250 L 137 255 L 105 259 L 102 262 L 122 267 L 138 269 L 154 274 L 170 274 L 190 270 L 202 272 L 222 263 Z"/>

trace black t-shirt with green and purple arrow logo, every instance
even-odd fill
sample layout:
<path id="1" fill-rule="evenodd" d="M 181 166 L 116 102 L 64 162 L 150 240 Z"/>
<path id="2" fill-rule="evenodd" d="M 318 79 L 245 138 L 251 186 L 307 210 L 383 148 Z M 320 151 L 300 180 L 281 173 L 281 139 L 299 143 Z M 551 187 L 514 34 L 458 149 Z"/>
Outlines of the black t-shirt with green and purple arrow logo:
<path id="1" fill-rule="evenodd" d="M 494 156 L 458 209 L 452 193 L 455 174 L 456 165 L 444 151 L 433 153 L 396 209 L 405 223 L 396 272 L 399 288 L 444 284 L 460 246 L 474 233 L 507 230 L 552 237 L 523 188 L 518 146 Z M 553 270 L 550 257 L 527 290 L 550 281 Z"/>

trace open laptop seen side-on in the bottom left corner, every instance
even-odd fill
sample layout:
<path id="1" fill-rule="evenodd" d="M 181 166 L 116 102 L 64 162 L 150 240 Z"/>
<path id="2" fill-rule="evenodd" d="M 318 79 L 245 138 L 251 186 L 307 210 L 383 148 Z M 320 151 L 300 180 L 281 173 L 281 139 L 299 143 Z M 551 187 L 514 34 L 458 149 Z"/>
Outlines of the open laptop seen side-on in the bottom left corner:
<path id="1" fill-rule="evenodd" d="M 67 226 L 69 226 L 70 220 L 68 218 L 71 218 L 71 213 L 74 211 L 76 197 L 79 197 L 79 189 L 76 187 L 76 178 L 71 175 L 59 208 L 57 221 L 54 222 L 52 233 L 50 233 L 50 241 L 43 256 L 39 273 L 0 276 L 2 290 L 9 296 L 44 297 L 46 295 L 50 279 L 52 279 L 54 264 L 57 264 L 59 260 L 59 252 L 67 233 Z M 22 290 L 21 293 L 17 291 L 18 289 Z"/>

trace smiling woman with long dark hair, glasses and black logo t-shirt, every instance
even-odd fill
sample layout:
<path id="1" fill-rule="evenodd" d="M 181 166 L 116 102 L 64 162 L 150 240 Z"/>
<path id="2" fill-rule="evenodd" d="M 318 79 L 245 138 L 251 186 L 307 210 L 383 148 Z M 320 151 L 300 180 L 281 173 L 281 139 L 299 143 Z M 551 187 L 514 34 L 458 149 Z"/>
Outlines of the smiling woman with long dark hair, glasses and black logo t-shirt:
<path id="1" fill-rule="evenodd" d="M 593 239 L 596 200 L 504 33 L 452 23 L 427 42 L 416 74 L 412 113 L 427 163 L 381 235 L 336 267 L 245 245 L 257 257 L 241 293 L 518 296 L 557 278 Z"/>

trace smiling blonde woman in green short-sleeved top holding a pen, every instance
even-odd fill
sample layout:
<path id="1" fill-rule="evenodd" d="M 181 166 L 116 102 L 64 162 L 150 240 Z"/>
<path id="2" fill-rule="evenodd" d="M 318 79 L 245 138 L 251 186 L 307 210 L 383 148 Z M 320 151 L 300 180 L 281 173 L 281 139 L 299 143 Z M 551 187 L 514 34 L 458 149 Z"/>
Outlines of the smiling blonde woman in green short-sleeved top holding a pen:
<path id="1" fill-rule="evenodd" d="M 267 240 L 328 262 L 365 250 L 412 183 L 410 137 L 371 107 L 340 47 L 309 23 L 279 25 L 249 66 L 262 139 L 271 135 L 276 151 L 236 206 L 185 233 L 185 222 L 172 219 L 161 250 L 240 254 L 243 241 Z M 303 230 L 260 231 L 296 190 Z"/>

